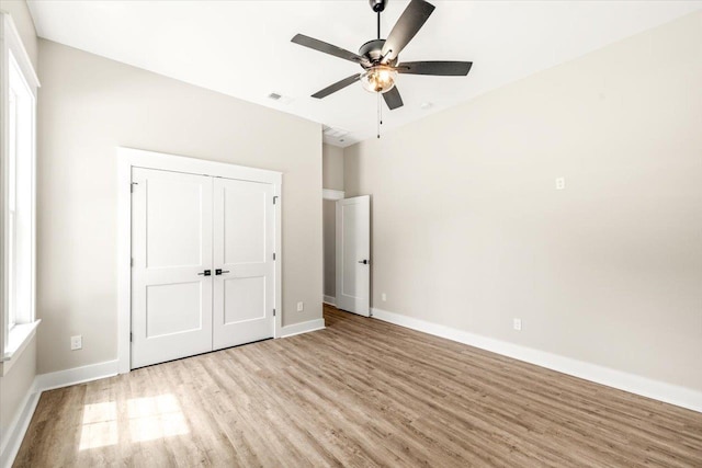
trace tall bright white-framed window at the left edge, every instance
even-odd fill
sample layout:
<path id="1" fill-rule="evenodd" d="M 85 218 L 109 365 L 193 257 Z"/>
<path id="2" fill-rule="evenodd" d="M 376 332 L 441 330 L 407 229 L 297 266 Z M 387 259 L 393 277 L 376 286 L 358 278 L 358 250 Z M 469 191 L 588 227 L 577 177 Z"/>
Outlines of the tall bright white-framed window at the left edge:
<path id="1" fill-rule="evenodd" d="M 2 24 L 0 126 L 2 195 L 2 320 L 0 375 L 7 373 L 36 327 L 34 320 L 34 164 L 38 82 L 9 15 Z M 10 364 L 9 364 L 10 363 Z"/>

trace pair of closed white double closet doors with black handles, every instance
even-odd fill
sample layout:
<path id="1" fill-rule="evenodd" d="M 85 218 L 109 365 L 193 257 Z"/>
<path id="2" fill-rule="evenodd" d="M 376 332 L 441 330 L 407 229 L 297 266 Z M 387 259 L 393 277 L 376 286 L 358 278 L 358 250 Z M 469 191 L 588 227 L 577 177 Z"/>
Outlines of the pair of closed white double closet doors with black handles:
<path id="1" fill-rule="evenodd" d="M 132 170 L 132 368 L 273 336 L 274 187 Z"/>

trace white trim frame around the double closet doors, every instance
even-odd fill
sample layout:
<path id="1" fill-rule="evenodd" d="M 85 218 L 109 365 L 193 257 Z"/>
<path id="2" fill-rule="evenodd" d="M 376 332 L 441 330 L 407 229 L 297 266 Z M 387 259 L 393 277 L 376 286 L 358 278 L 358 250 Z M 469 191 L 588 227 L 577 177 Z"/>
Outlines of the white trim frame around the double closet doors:
<path id="1" fill-rule="evenodd" d="M 132 168 L 263 182 L 273 185 L 275 197 L 275 318 L 273 338 L 282 336 L 282 192 L 283 173 L 265 169 L 188 158 L 163 152 L 117 147 L 117 370 L 131 370 L 132 353 Z"/>

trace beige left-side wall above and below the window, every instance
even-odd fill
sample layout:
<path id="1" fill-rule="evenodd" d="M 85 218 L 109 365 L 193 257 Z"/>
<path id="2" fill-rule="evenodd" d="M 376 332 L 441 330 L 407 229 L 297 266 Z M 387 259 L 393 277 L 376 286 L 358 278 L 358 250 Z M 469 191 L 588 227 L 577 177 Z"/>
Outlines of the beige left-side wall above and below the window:
<path id="1" fill-rule="evenodd" d="M 0 10 L 12 16 L 24 48 L 36 70 L 37 38 L 26 3 L 24 0 L 2 0 Z M 4 377 L 0 377 L 0 442 L 8 436 L 10 423 L 22 410 L 20 404 L 32 390 L 36 375 L 36 338 L 32 339 L 24 351 L 13 358 L 16 361 L 12 364 L 10 372 Z"/>

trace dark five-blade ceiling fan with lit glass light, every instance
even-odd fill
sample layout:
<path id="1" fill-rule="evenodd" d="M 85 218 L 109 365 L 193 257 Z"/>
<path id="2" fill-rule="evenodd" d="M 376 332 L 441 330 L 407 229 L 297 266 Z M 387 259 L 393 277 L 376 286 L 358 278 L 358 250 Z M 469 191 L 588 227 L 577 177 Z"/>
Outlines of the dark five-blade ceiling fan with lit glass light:
<path id="1" fill-rule="evenodd" d="M 415 37 L 434 5 L 424 0 L 411 0 L 386 39 L 381 38 L 381 13 L 387 0 L 370 0 L 371 8 L 377 13 L 377 38 L 366 42 L 358 54 L 327 44 L 314 37 L 297 34 L 292 42 L 325 54 L 333 55 L 359 64 L 363 72 L 352 75 L 343 80 L 317 91 L 313 98 L 322 99 L 343 88 L 361 81 L 367 91 L 382 93 L 387 106 L 392 110 L 403 106 L 403 98 L 395 85 L 397 73 L 432 75 L 439 77 L 464 77 L 471 71 L 471 61 L 404 61 L 398 64 L 399 53 Z"/>

